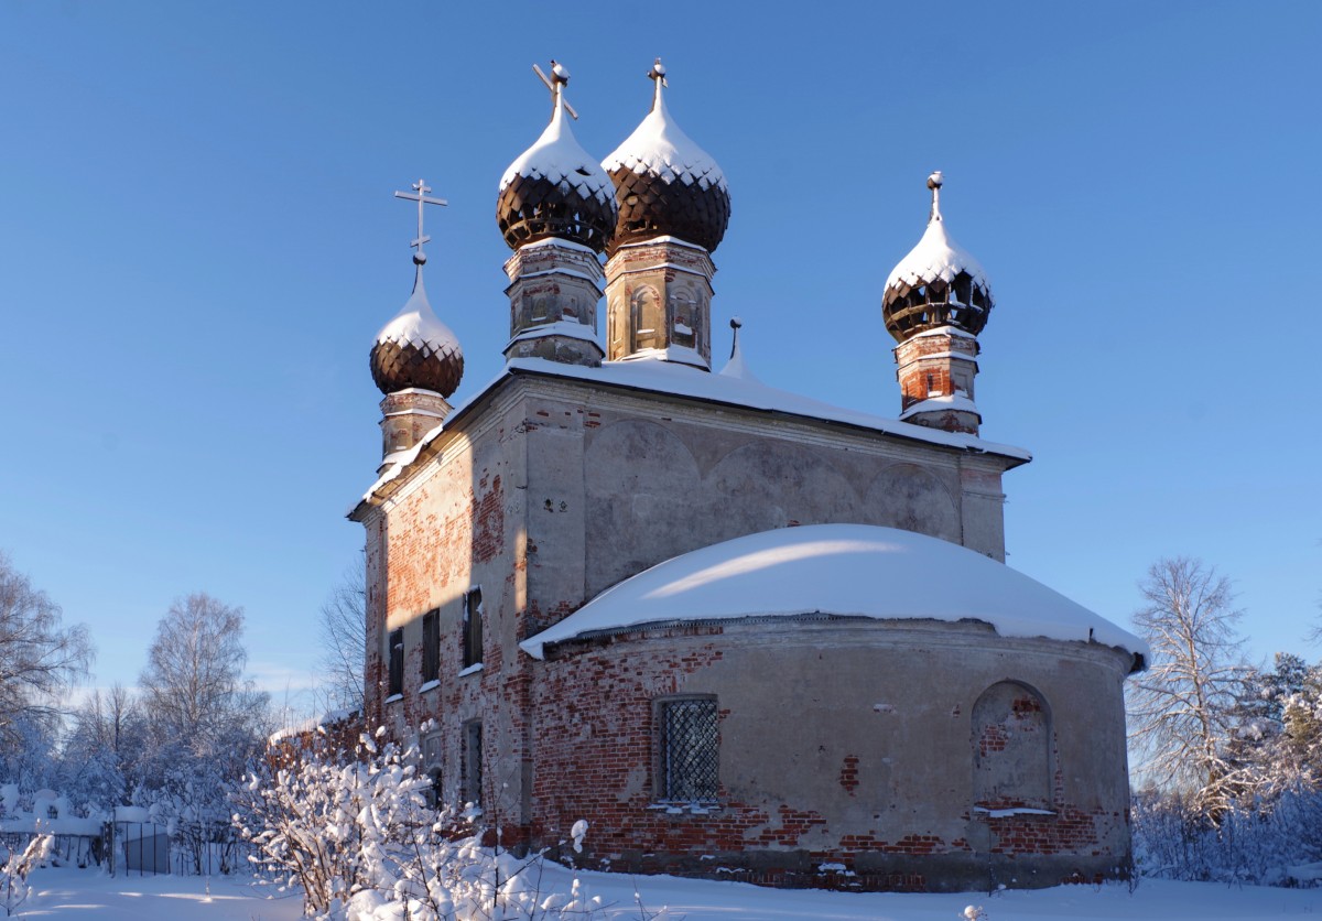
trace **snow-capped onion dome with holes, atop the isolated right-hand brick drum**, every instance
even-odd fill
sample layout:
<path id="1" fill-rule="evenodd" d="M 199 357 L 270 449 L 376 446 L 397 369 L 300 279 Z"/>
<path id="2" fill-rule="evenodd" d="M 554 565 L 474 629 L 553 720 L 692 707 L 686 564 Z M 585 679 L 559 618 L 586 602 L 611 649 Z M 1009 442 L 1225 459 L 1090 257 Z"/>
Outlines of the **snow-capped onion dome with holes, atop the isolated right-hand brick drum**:
<path id="1" fill-rule="evenodd" d="M 939 326 L 977 336 L 992 311 L 992 287 L 978 260 L 945 233 L 941 172 L 927 177 L 932 217 L 927 231 L 886 279 L 882 316 L 898 342 Z"/>

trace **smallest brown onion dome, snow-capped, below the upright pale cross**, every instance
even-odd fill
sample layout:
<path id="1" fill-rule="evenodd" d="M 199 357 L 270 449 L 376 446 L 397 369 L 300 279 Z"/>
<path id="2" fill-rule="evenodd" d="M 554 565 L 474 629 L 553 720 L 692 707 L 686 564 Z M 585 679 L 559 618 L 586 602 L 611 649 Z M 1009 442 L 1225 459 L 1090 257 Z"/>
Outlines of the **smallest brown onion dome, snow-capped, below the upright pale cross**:
<path id="1" fill-rule="evenodd" d="M 418 274 L 412 295 L 395 318 L 381 328 L 371 346 L 371 379 L 382 394 L 420 387 L 448 398 L 464 377 L 459 340 L 427 303 L 422 283 L 426 262 L 426 254 L 414 255 Z"/>

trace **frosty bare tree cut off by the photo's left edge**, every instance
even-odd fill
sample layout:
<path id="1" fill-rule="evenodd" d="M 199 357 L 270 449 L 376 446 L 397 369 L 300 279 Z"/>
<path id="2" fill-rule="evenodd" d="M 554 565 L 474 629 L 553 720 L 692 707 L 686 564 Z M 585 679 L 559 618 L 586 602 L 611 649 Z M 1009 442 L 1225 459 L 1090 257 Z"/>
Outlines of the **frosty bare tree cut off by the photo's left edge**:
<path id="1" fill-rule="evenodd" d="M 61 712 L 59 690 L 87 670 L 82 625 L 61 626 L 59 605 L 0 554 L 0 744 L 17 745 L 22 719 Z"/>

